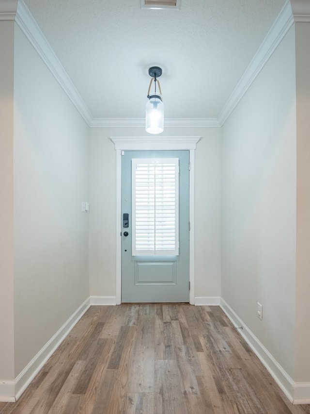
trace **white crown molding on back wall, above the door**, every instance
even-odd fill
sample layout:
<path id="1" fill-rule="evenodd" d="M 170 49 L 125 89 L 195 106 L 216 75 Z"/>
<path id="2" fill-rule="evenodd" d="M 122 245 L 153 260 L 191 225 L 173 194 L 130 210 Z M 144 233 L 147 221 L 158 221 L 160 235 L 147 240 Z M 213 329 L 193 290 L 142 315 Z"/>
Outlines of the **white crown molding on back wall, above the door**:
<path id="1" fill-rule="evenodd" d="M 145 118 L 93 118 L 91 127 L 145 127 Z M 217 118 L 165 118 L 165 127 L 220 127 Z"/>

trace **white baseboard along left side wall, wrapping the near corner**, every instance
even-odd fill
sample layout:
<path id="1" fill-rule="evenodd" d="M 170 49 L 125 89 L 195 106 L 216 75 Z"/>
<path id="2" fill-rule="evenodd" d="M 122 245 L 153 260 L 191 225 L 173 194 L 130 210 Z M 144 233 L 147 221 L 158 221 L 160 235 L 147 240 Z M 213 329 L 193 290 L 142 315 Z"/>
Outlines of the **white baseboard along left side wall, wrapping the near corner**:
<path id="1" fill-rule="evenodd" d="M 84 315 L 91 306 L 90 299 L 87 298 L 74 312 L 73 315 L 62 325 L 62 327 L 52 336 L 47 344 L 32 358 L 30 363 L 16 377 L 15 381 L 0 383 L 0 401 L 15 402 L 22 395 L 33 378 L 37 375 L 48 358 L 60 346 L 63 339 L 68 335 L 78 320 Z"/>

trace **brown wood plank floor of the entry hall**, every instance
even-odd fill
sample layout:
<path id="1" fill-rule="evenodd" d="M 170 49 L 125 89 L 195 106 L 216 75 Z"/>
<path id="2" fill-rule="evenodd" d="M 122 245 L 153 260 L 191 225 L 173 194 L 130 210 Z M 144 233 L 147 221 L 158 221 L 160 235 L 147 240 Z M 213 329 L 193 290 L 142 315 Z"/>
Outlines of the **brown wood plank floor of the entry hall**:
<path id="1" fill-rule="evenodd" d="M 92 306 L 1 414 L 305 414 L 217 306 Z"/>

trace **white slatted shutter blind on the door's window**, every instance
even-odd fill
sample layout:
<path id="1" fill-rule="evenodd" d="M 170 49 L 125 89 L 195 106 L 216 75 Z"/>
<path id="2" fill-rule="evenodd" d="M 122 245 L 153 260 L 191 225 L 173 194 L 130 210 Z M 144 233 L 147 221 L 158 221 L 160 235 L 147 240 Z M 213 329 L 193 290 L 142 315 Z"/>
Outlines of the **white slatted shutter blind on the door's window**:
<path id="1" fill-rule="evenodd" d="M 132 255 L 179 254 L 179 160 L 132 160 Z"/>

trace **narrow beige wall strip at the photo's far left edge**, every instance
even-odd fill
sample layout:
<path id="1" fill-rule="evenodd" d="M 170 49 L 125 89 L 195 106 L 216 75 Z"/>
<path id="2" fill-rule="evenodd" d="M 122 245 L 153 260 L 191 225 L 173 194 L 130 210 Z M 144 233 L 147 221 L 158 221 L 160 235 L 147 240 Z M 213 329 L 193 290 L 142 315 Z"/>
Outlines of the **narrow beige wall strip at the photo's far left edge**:
<path id="1" fill-rule="evenodd" d="M 0 21 L 0 383 L 14 380 L 14 22 Z"/>

